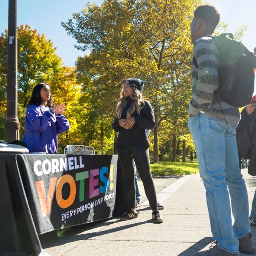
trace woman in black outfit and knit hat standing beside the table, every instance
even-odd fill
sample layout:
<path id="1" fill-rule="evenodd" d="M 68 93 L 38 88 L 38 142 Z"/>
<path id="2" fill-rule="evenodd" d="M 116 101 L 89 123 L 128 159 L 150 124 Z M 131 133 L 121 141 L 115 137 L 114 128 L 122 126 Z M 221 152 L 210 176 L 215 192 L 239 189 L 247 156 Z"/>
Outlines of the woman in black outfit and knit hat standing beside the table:
<path id="1" fill-rule="evenodd" d="M 122 175 L 125 179 L 129 210 L 119 218 L 129 220 L 138 216 L 135 204 L 134 159 L 153 210 L 152 219 L 155 222 L 163 222 L 157 206 L 157 196 L 149 161 L 149 141 L 145 132 L 145 129 L 153 129 L 155 126 L 153 109 L 149 101 L 143 100 L 141 95 L 144 81 L 123 79 L 121 86 L 122 90 L 116 108 L 117 115 L 112 127 L 119 132 L 116 147 Z"/>

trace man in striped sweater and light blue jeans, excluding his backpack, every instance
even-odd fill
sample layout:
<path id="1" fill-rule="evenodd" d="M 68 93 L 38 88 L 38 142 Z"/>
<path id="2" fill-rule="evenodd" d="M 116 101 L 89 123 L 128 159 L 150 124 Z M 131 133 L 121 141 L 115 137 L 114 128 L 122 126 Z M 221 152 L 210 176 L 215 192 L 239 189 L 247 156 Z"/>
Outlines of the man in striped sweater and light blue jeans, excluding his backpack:
<path id="1" fill-rule="evenodd" d="M 220 51 L 213 43 L 212 34 L 219 20 L 216 8 L 204 5 L 196 8 L 191 22 L 194 58 L 188 125 L 196 147 L 200 177 L 206 189 L 210 226 L 216 241 L 210 250 L 193 256 L 239 256 L 239 252 L 255 252 L 248 219 L 248 194 L 236 146 L 240 113 L 238 107 L 228 104 L 215 93 L 220 86 Z M 227 187 L 235 220 L 233 226 Z"/>

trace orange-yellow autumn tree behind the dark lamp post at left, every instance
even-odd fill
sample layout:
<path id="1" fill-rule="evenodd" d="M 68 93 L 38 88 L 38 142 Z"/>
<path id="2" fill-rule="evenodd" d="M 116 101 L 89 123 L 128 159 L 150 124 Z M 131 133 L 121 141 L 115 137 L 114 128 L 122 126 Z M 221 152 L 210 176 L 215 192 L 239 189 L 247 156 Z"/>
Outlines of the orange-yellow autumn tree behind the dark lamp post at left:
<path id="1" fill-rule="evenodd" d="M 7 87 L 7 42 L 8 31 L 0 35 L 0 138 L 4 138 L 4 121 L 6 119 L 6 87 Z M 61 58 L 56 55 L 56 48 L 44 34 L 30 26 L 21 25 L 17 29 L 18 39 L 18 111 L 19 121 L 24 123 L 26 105 L 31 90 L 36 83 L 49 81 L 61 67 Z M 25 113 L 24 113 L 25 112 Z M 24 127 L 20 129 L 20 137 L 24 135 Z"/>

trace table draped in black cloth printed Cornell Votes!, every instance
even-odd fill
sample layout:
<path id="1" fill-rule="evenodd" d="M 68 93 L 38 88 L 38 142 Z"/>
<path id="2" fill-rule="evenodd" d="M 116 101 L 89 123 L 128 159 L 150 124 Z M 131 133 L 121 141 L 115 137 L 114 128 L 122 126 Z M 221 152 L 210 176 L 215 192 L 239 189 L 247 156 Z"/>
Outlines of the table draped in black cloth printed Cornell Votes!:
<path id="1" fill-rule="evenodd" d="M 0 154 L 0 256 L 48 255 L 38 234 L 114 215 L 117 155 Z M 119 194 L 117 215 L 125 209 Z"/>

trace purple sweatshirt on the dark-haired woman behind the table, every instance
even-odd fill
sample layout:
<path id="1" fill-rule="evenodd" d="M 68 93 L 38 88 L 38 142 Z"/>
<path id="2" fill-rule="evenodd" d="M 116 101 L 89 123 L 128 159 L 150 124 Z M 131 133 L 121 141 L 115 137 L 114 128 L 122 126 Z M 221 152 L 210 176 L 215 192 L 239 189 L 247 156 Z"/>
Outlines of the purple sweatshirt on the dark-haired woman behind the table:
<path id="1" fill-rule="evenodd" d="M 30 105 L 26 111 L 23 141 L 30 152 L 57 153 L 58 134 L 70 128 L 64 115 L 56 115 L 42 105 Z"/>

